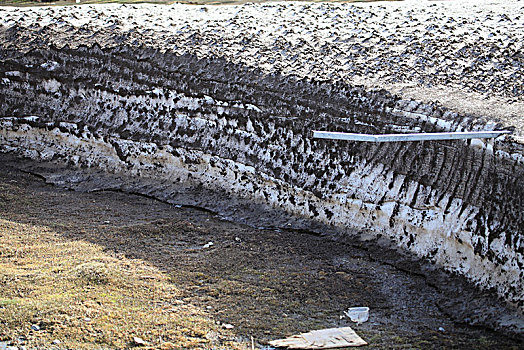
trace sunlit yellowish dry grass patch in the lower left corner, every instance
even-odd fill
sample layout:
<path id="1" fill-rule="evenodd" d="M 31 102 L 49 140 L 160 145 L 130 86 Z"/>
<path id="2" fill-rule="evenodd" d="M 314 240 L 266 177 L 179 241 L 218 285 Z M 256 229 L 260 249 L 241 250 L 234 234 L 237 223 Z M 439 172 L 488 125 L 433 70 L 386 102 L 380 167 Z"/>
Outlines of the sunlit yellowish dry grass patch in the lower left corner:
<path id="1" fill-rule="evenodd" d="M 29 348 L 210 349 L 223 334 L 157 268 L 49 228 L 0 219 L 0 337 Z M 40 330 L 31 329 L 37 325 Z"/>

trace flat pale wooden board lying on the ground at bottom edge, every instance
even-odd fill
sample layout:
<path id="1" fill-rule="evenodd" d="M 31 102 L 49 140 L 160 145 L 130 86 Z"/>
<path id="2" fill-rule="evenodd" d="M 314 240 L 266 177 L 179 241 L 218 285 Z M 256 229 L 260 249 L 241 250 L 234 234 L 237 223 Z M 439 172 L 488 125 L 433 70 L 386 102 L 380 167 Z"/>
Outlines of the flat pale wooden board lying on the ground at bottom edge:
<path id="1" fill-rule="evenodd" d="M 269 342 L 271 346 L 288 349 L 336 349 L 350 346 L 362 346 L 367 343 L 351 327 L 328 328 L 285 339 Z"/>

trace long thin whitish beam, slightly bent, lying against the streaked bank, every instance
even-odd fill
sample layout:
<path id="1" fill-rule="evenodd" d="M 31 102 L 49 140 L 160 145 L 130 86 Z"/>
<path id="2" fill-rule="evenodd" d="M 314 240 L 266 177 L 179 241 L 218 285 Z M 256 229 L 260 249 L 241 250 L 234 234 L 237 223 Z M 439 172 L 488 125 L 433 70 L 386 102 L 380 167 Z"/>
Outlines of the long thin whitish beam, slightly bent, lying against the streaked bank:
<path id="1" fill-rule="evenodd" d="M 464 131 L 464 132 L 428 132 L 418 134 L 352 134 L 313 130 L 313 138 L 328 140 L 347 140 L 364 142 L 399 142 L 399 141 L 435 141 L 497 138 L 510 131 Z"/>

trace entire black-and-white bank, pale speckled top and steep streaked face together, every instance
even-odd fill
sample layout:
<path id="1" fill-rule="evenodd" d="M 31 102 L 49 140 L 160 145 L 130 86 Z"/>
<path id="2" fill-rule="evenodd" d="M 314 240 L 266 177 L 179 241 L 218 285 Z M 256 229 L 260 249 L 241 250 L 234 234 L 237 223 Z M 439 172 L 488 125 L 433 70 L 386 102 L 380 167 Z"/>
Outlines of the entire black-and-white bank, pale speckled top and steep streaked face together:
<path id="1" fill-rule="evenodd" d="M 522 310 L 519 123 L 494 142 L 311 139 L 313 129 L 493 130 L 519 121 L 517 2 L 481 5 L 482 25 L 457 4 L 433 5 L 2 9 L 0 146 L 72 166 L 38 172 L 69 188 L 135 192 L 350 240 L 383 237 Z M 414 101 L 408 90 L 430 97 Z M 466 96 L 464 106 L 435 102 L 439 91 Z M 483 99 L 500 109 L 480 113 Z M 489 310 L 474 319 L 508 327 Z"/>

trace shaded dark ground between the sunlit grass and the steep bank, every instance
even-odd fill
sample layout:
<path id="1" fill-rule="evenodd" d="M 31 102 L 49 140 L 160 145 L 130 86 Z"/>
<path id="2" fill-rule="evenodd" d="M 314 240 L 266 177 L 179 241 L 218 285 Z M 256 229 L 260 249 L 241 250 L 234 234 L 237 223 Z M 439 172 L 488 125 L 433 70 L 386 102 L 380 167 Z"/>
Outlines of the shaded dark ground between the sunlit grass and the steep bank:
<path id="1" fill-rule="evenodd" d="M 376 242 L 259 230 L 125 193 L 67 191 L 20 171 L 26 161 L 1 155 L 0 164 L 2 219 L 48 226 L 64 242 L 88 241 L 115 257 L 153 264 L 182 291 L 180 299 L 234 325 L 246 347 L 251 336 L 264 346 L 296 332 L 345 325 L 377 349 L 522 346 L 465 324 L 486 321 L 490 309 L 495 316 L 496 301 L 463 278 Z M 203 248 L 208 242 L 213 245 Z M 371 309 L 361 326 L 340 318 L 355 305 Z M 22 321 L 21 331 L 30 322 Z"/>

